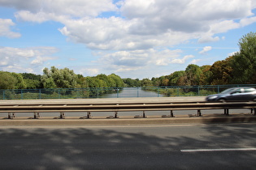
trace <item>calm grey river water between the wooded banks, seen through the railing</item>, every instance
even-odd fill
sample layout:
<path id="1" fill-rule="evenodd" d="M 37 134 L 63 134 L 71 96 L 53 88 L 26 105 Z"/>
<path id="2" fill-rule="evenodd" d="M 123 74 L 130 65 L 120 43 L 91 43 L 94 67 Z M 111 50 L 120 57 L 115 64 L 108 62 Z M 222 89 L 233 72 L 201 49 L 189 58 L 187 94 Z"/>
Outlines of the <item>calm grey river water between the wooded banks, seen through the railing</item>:
<path id="1" fill-rule="evenodd" d="M 116 91 L 112 94 L 103 95 L 103 98 L 124 98 L 124 97 L 163 97 L 154 91 L 145 91 L 141 87 L 125 87 L 123 90 Z"/>

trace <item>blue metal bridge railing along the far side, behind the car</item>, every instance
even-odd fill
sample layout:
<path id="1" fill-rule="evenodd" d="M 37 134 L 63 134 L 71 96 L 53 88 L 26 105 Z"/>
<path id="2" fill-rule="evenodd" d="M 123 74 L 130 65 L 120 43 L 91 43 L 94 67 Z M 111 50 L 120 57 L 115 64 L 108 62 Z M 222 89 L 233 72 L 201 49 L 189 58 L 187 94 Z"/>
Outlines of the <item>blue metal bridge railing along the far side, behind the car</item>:
<path id="1" fill-rule="evenodd" d="M 0 100 L 208 96 L 229 87 L 256 87 L 256 84 L 0 90 Z"/>

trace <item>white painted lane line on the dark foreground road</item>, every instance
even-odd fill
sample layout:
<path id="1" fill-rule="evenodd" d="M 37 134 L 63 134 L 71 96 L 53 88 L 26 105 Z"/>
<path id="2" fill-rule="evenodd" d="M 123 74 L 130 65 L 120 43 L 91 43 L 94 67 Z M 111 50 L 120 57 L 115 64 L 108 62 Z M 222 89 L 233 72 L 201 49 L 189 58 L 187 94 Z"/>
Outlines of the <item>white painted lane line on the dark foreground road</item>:
<path id="1" fill-rule="evenodd" d="M 219 148 L 219 149 L 187 149 L 182 152 L 207 152 L 207 151 L 256 151 L 255 147 L 251 148 Z"/>

